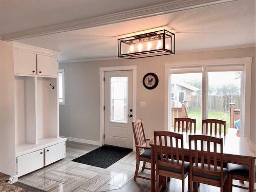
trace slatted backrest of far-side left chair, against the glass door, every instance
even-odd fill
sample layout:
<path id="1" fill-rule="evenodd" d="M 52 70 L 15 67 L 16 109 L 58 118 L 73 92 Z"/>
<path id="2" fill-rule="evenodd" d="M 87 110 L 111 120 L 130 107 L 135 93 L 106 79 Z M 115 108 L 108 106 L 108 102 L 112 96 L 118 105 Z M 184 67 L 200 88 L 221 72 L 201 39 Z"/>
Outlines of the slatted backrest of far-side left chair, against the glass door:
<path id="1" fill-rule="evenodd" d="M 180 132 L 180 128 L 181 131 L 188 131 L 190 133 L 192 133 L 192 130 L 194 129 L 194 133 L 196 133 L 196 119 L 190 119 L 190 118 L 186 118 L 186 117 L 181 117 L 181 118 L 175 118 L 174 119 L 174 131 L 176 131 L 176 125 L 177 125 L 177 131 Z M 194 125 L 193 125 L 194 124 Z"/>

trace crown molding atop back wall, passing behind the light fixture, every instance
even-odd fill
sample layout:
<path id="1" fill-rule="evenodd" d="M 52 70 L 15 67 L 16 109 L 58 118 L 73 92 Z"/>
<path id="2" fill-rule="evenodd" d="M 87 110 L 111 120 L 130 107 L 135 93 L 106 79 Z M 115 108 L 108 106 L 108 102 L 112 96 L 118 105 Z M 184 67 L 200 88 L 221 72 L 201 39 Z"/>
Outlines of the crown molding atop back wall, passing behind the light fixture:
<path id="1" fill-rule="evenodd" d="M 228 46 L 228 47 L 219 47 L 219 48 L 205 48 L 205 49 L 193 49 L 193 50 L 182 50 L 176 51 L 175 54 L 182 53 L 196 53 L 196 52 L 204 52 L 204 51 L 219 51 L 219 50 L 229 50 L 229 49 L 243 49 L 243 48 L 255 48 L 255 44 L 249 45 L 241 45 L 241 46 Z M 101 57 L 101 58 L 89 58 L 89 59 L 76 59 L 76 60 L 63 60 L 59 61 L 59 63 L 75 63 L 75 62 L 86 62 L 86 61 L 101 61 L 101 60 L 115 60 L 122 59 L 120 57 Z"/>

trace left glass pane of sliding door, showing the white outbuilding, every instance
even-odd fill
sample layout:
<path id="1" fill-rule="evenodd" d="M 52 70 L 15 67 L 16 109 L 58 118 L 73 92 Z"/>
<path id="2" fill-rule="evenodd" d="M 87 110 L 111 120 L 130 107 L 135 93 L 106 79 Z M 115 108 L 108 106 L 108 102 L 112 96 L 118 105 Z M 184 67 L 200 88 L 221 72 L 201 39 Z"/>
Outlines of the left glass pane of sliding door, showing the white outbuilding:
<path id="1" fill-rule="evenodd" d="M 177 117 L 197 120 L 196 128 L 202 126 L 202 73 L 181 73 L 170 75 L 170 104 L 172 127 Z"/>

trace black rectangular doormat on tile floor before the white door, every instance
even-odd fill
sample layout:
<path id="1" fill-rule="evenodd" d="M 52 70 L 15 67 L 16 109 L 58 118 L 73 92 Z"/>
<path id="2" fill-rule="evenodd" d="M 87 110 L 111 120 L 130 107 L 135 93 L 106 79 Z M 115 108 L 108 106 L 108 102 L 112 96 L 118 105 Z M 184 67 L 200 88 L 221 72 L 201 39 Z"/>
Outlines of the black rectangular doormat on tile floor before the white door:
<path id="1" fill-rule="evenodd" d="M 108 168 L 124 156 L 130 154 L 132 148 L 124 148 L 112 145 L 103 145 L 81 157 L 73 159 L 77 163 L 88 164 L 101 168 Z"/>

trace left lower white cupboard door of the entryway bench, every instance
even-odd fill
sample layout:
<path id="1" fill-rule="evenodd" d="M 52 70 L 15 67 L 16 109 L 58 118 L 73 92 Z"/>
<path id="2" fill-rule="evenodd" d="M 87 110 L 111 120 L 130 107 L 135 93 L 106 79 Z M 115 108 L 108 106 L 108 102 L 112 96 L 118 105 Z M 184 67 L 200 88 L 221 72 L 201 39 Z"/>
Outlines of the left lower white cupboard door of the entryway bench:
<path id="1" fill-rule="evenodd" d="M 17 157 L 18 177 L 44 167 L 44 150 Z"/>

